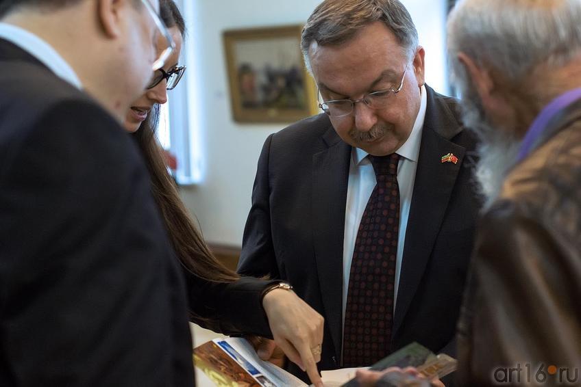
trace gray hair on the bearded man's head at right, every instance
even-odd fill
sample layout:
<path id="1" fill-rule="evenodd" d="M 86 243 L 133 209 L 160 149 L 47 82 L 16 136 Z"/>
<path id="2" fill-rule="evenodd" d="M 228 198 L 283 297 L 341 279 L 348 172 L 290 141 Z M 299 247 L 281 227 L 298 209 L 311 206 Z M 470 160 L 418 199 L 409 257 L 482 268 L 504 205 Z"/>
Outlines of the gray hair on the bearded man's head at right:
<path id="1" fill-rule="evenodd" d="M 460 0 L 447 23 L 453 83 L 467 81 L 458 53 L 523 81 L 541 64 L 560 65 L 581 49 L 581 0 Z"/>

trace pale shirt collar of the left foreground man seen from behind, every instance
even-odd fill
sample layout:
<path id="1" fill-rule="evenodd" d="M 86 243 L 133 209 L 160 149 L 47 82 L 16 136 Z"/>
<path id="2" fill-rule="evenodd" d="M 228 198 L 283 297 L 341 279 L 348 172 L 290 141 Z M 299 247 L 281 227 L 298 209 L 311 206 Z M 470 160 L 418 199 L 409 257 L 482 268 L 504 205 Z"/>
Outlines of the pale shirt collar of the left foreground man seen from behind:
<path id="1" fill-rule="evenodd" d="M 21 27 L 7 23 L 0 23 L 0 38 L 16 44 L 47 66 L 57 77 L 71 83 L 77 89 L 82 89 L 83 85 L 75 70 L 45 40 Z"/>

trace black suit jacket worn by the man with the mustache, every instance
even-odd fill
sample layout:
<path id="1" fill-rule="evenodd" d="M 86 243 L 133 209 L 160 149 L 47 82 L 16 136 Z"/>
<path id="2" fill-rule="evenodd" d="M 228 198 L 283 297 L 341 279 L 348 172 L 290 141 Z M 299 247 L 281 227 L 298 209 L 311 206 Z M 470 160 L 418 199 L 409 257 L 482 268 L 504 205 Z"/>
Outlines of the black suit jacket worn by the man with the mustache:
<path id="1" fill-rule="evenodd" d="M 393 348 L 453 353 L 479 201 L 454 98 L 428 91 L 394 316 Z M 442 163 L 447 153 L 458 163 Z M 325 317 L 319 366 L 341 359 L 343 235 L 351 146 L 320 114 L 268 137 L 258 161 L 238 269 L 287 280 Z M 298 369 L 293 369 L 301 375 Z"/>

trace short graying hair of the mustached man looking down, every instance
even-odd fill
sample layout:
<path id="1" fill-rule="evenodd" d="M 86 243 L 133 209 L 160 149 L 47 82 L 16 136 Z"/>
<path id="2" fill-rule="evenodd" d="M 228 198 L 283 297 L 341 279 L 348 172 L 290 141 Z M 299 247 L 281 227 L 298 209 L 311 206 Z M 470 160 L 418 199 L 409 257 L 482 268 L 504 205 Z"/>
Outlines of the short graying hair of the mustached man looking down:
<path id="1" fill-rule="evenodd" d="M 301 50 L 310 71 L 312 42 L 343 44 L 360 29 L 380 21 L 390 29 L 411 59 L 418 46 L 417 29 L 399 0 L 325 0 L 315 8 L 303 28 Z"/>

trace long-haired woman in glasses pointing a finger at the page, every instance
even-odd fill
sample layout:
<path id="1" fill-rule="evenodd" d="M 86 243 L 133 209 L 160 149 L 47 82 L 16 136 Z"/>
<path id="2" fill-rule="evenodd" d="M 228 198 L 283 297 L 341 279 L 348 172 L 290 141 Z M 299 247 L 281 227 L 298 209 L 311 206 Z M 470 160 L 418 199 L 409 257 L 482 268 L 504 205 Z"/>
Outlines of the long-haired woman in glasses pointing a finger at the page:
<path id="1" fill-rule="evenodd" d="M 175 88 L 185 71 L 177 62 L 186 26 L 172 0 L 160 1 L 160 12 L 176 49 L 133 104 L 125 128 L 132 132 L 143 154 L 153 198 L 184 267 L 190 321 L 224 334 L 272 336 L 286 356 L 308 372 L 313 383 L 322 385 L 315 363 L 321 358 L 323 317 L 289 291 L 287 284 L 240 277 L 220 263 L 203 241 L 167 172 L 155 131 L 159 107 L 167 101 L 166 90 Z"/>

